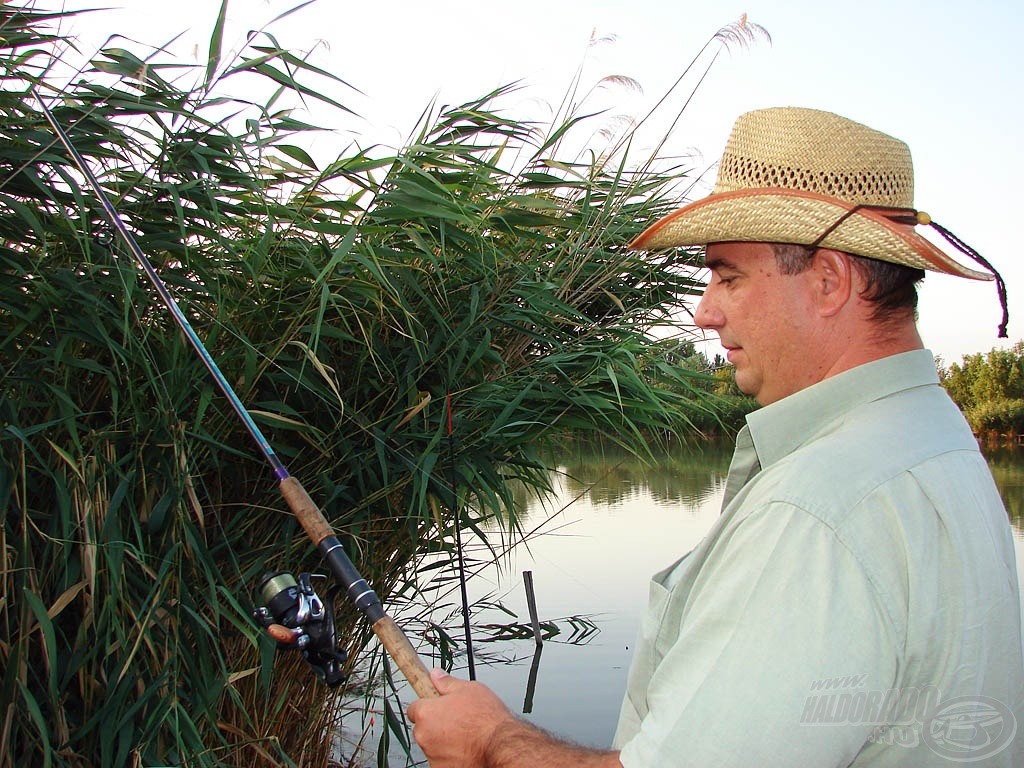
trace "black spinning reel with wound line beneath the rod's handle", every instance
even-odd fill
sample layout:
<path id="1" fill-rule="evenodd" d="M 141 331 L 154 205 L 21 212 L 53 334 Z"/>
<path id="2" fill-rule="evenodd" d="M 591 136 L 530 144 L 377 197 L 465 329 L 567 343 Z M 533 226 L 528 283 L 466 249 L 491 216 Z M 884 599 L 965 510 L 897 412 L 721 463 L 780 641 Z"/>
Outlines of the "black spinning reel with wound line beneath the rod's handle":
<path id="1" fill-rule="evenodd" d="M 321 600 L 309 573 L 299 573 L 296 581 L 287 570 L 265 574 L 256 592 L 263 607 L 254 610 L 253 616 L 278 641 L 278 647 L 301 650 L 330 687 L 345 682 L 342 667 L 347 654 L 338 646 L 333 595 L 327 602 Z"/>

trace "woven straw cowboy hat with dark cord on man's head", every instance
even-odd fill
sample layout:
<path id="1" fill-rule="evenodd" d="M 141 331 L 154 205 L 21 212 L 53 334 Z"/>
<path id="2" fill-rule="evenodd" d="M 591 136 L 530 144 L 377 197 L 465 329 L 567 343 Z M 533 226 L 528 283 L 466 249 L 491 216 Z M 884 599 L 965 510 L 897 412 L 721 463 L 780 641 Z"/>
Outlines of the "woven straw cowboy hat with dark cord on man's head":
<path id="1" fill-rule="evenodd" d="M 957 263 L 919 234 L 916 224 L 932 224 L 991 268 L 913 208 L 913 166 L 905 143 L 831 113 L 775 108 L 736 120 L 711 196 L 655 222 L 630 247 L 796 243 L 993 279 Z"/>

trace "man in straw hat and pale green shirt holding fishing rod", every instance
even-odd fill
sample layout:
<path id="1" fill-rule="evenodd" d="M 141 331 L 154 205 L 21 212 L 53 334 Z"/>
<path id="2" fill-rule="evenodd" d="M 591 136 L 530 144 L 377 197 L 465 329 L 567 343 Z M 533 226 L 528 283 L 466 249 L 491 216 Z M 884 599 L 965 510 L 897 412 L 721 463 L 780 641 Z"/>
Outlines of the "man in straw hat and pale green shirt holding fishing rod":
<path id="1" fill-rule="evenodd" d="M 763 406 L 722 515 L 651 583 L 614 750 L 435 672 L 409 710 L 433 768 L 1024 765 L 1007 514 L 915 328 L 923 270 L 991 275 L 914 230 L 912 184 L 897 139 L 762 110 L 714 193 L 637 239 L 707 246 L 694 322 Z"/>

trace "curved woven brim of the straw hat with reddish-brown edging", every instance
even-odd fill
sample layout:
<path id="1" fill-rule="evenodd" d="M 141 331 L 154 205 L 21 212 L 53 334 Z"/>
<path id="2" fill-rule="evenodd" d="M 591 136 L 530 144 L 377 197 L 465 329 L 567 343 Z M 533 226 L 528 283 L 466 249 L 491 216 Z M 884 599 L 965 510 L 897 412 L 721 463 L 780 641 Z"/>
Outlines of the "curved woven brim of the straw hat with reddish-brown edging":
<path id="1" fill-rule="evenodd" d="M 656 251 L 729 242 L 810 245 L 854 207 L 817 193 L 782 187 L 717 193 L 655 221 L 630 248 Z M 818 245 L 919 269 L 992 280 L 991 274 L 950 258 L 912 225 L 868 208 L 849 215 Z"/>

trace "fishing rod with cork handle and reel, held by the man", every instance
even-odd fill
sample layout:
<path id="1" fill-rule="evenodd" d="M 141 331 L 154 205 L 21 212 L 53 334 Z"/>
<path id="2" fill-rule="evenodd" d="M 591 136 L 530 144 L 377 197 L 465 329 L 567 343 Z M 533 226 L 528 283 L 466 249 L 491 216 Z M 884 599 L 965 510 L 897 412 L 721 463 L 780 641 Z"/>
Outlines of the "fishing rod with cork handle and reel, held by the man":
<path id="1" fill-rule="evenodd" d="M 60 123 L 50 111 L 49 106 L 47 106 L 46 102 L 43 101 L 35 86 L 30 86 L 29 90 L 36 101 L 39 102 L 39 105 L 42 108 L 43 115 L 46 117 L 46 121 L 50 124 L 50 127 L 60 140 L 60 143 L 63 144 L 65 148 L 68 151 L 68 154 L 71 156 L 75 166 L 85 177 L 89 188 L 99 201 L 108 221 L 114 229 L 117 230 L 118 234 L 121 236 L 121 239 L 127 246 L 128 250 L 131 251 L 139 266 L 142 267 L 142 270 L 145 272 L 150 283 L 157 291 L 160 299 L 170 311 L 175 324 L 182 331 L 182 333 L 184 333 L 188 344 L 199 355 L 200 359 L 202 359 L 203 365 L 210 373 L 214 383 L 220 389 L 224 397 L 227 398 L 231 409 L 238 415 L 246 430 L 255 440 L 260 453 L 263 455 L 263 458 L 266 459 L 266 462 L 273 469 L 274 477 L 279 481 L 281 495 L 285 498 L 285 501 L 291 508 L 292 513 L 302 525 L 302 529 L 305 530 L 306 536 L 316 546 L 316 549 L 327 562 L 338 584 L 347 594 L 349 599 L 355 604 L 355 607 L 358 608 L 370 622 L 374 634 L 380 640 L 381 644 L 384 646 L 385 650 L 387 650 L 391 658 L 394 659 L 398 669 L 401 670 L 401 673 L 406 676 L 406 679 L 409 681 L 409 684 L 413 687 L 416 694 L 420 698 L 431 698 L 436 696 L 437 691 L 430 682 L 430 672 L 426 665 L 423 664 L 423 660 L 416 652 L 416 649 L 413 647 L 409 638 L 394 623 L 394 620 L 387 614 L 384 610 L 384 606 L 381 604 L 380 598 L 377 596 L 377 593 L 374 592 L 373 588 L 371 588 L 367 581 L 359 574 L 355 565 L 352 564 L 348 555 L 345 554 L 341 542 L 338 541 L 338 537 L 335 536 L 334 530 L 331 528 L 327 518 L 324 517 L 324 513 L 319 510 L 319 507 L 316 506 L 316 504 L 309 497 L 309 494 L 306 493 L 302 483 L 289 473 L 284 462 L 282 462 L 282 460 L 278 457 L 269 441 L 256 425 L 256 422 L 253 421 L 249 411 L 243 404 L 238 394 L 236 394 L 231 385 L 227 382 L 227 379 L 224 378 L 224 375 L 220 372 L 220 369 L 217 367 L 217 364 L 214 361 L 209 350 L 206 348 L 206 345 L 203 344 L 203 341 L 193 329 L 191 324 L 188 323 L 187 317 L 185 317 L 184 313 L 181 311 L 181 308 L 174 300 L 174 297 L 171 295 L 171 292 L 168 290 L 163 280 L 161 280 L 160 274 L 154 268 L 150 259 L 142 252 L 142 249 L 139 248 L 134 236 L 132 236 L 131 231 L 129 231 L 128 227 L 125 225 L 117 209 L 114 207 L 113 203 L 111 203 L 106 194 L 99 185 L 99 180 L 92 173 L 92 170 L 85 162 L 85 159 L 75 147 L 75 144 L 68 136 L 63 127 L 61 127 Z M 305 574 L 302 574 L 302 577 L 305 577 Z M 302 629 L 303 622 L 310 618 L 314 618 L 318 626 L 326 625 L 326 622 L 323 621 L 326 617 L 324 606 L 318 598 L 316 598 L 308 580 L 302 577 L 300 577 L 300 582 L 298 584 L 295 583 L 294 579 L 290 578 L 290 574 L 275 574 L 264 580 L 261 585 L 261 592 L 267 597 L 285 595 L 285 602 L 287 603 L 287 605 L 281 607 L 276 605 L 269 605 L 269 611 L 267 614 L 268 621 L 264 623 L 264 626 L 266 627 L 268 634 L 279 643 L 284 645 L 291 645 L 292 647 L 295 647 L 295 644 L 303 639 L 305 639 L 307 643 L 312 640 L 314 644 L 326 643 L 328 646 L 333 645 L 334 634 L 331 629 L 328 629 L 323 637 L 314 636 L 312 638 L 309 636 L 303 636 L 300 632 L 296 632 L 296 629 Z M 288 618 L 284 620 L 285 624 L 276 623 L 276 618 L 284 618 L 285 616 L 288 616 Z M 295 626 L 293 627 L 289 625 Z M 327 647 L 326 653 L 328 656 L 332 655 L 333 652 L 333 647 Z"/>

